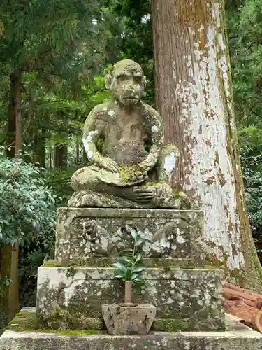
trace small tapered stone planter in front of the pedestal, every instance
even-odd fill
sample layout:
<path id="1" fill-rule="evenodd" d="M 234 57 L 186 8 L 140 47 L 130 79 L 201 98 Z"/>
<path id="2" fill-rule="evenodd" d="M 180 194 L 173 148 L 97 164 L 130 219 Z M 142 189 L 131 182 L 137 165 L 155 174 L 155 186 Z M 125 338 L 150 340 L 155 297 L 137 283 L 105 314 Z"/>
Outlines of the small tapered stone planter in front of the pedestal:
<path id="1" fill-rule="evenodd" d="M 105 304 L 101 309 L 110 335 L 147 335 L 156 316 L 156 307 L 151 304 L 135 307 Z"/>

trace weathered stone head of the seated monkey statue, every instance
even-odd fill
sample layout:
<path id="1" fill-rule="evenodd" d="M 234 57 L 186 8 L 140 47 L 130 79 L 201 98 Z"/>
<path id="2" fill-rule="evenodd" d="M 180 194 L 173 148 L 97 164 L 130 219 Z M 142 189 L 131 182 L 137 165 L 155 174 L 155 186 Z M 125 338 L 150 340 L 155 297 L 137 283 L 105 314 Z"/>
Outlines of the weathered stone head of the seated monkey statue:
<path id="1" fill-rule="evenodd" d="M 145 92 L 145 76 L 139 64 L 124 59 L 112 66 L 106 78 L 106 87 L 111 90 L 124 106 L 138 104 Z"/>

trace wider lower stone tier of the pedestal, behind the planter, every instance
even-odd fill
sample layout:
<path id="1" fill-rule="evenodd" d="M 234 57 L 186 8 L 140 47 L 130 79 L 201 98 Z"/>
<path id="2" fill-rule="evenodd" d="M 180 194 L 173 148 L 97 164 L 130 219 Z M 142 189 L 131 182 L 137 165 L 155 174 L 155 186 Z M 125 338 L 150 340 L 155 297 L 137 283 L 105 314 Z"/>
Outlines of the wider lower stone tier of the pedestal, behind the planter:
<path id="1" fill-rule="evenodd" d="M 124 301 L 114 269 L 40 267 L 38 317 L 50 328 L 101 329 L 101 305 Z M 154 304 L 155 330 L 223 330 L 221 281 L 216 269 L 150 268 L 133 302 Z"/>

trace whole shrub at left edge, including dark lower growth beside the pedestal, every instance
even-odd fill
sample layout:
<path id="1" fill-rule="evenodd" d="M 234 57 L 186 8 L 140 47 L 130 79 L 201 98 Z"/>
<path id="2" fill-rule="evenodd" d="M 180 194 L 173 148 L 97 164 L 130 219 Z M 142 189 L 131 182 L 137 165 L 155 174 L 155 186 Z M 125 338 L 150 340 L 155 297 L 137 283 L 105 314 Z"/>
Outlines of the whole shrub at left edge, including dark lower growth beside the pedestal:
<path id="1" fill-rule="evenodd" d="M 41 168 L 5 158 L 3 152 L 0 193 L 0 241 L 20 246 L 22 306 L 29 300 L 35 304 L 37 268 L 54 251 L 57 196 L 46 186 Z"/>

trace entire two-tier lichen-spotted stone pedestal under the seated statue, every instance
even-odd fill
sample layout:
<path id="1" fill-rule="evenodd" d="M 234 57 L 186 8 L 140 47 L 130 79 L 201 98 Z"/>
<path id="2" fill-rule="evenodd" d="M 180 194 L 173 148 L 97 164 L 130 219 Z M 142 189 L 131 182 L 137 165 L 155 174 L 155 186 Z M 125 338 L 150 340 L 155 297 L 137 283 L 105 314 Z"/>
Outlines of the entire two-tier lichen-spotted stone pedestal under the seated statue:
<path id="1" fill-rule="evenodd" d="M 143 231 L 145 286 L 133 302 L 157 307 L 154 330 L 224 330 L 220 270 L 201 251 L 200 211 L 71 209 L 57 213 L 56 260 L 38 269 L 37 314 L 48 328 L 104 328 L 102 304 L 124 301 L 110 264 Z"/>

